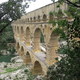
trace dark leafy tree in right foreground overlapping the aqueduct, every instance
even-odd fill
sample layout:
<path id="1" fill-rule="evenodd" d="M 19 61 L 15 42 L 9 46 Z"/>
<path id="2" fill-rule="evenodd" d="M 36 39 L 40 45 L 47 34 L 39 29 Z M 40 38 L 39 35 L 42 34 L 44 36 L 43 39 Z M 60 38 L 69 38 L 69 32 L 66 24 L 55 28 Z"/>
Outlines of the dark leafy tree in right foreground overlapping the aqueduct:
<path id="1" fill-rule="evenodd" d="M 68 4 L 66 12 L 68 17 L 64 20 L 60 17 L 60 20 L 55 21 L 58 24 L 55 32 L 60 34 L 61 39 L 66 40 L 67 45 L 62 45 L 58 49 L 61 60 L 49 67 L 47 80 L 80 80 L 80 0 L 74 2 L 59 0 L 59 2 Z M 71 20 L 69 20 L 70 16 Z M 62 37 L 63 34 L 65 38 Z"/>

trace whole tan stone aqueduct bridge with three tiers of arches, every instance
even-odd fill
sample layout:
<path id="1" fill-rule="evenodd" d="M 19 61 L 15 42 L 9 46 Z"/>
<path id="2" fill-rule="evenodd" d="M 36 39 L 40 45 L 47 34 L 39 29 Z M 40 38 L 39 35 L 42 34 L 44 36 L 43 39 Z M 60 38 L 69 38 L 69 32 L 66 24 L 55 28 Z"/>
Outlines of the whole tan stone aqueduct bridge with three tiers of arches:
<path id="1" fill-rule="evenodd" d="M 54 19 L 49 13 L 58 11 L 57 5 L 58 2 L 46 5 L 12 23 L 16 50 L 25 64 L 32 64 L 33 74 L 46 75 L 48 67 L 56 62 L 59 36 L 53 30 L 57 25 L 53 27 L 48 22 Z M 63 4 L 60 8 L 64 11 L 67 5 Z M 43 42 L 40 41 L 41 34 Z"/>

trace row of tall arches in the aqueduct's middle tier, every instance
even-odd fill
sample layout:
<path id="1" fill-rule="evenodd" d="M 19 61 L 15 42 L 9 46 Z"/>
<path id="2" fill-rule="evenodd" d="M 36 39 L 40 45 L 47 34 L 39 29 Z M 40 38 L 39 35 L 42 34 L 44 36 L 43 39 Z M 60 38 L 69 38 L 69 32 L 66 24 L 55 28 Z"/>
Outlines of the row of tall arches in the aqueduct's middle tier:
<path id="1" fill-rule="evenodd" d="M 34 34 L 31 34 L 30 29 L 28 27 L 26 28 L 26 34 L 24 34 L 22 28 L 21 30 L 22 30 L 21 36 L 19 38 L 21 38 L 24 41 L 27 47 L 32 46 L 32 50 L 34 51 L 34 53 L 42 52 L 41 44 L 44 44 L 46 45 L 45 46 L 46 52 L 44 53 L 46 56 L 45 58 L 48 59 L 48 61 L 51 59 L 53 61 L 55 57 L 57 57 L 56 53 L 59 47 L 59 41 L 58 41 L 59 36 L 55 34 L 54 31 L 52 31 L 49 36 L 46 35 L 46 37 L 49 38 L 49 41 L 46 42 L 47 38 L 43 35 L 43 32 L 40 28 L 36 28 Z M 33 35 L 33 39 L 31 38 L 31 35 Z M 21 49 L 23 51 L 23 48 Z"/>

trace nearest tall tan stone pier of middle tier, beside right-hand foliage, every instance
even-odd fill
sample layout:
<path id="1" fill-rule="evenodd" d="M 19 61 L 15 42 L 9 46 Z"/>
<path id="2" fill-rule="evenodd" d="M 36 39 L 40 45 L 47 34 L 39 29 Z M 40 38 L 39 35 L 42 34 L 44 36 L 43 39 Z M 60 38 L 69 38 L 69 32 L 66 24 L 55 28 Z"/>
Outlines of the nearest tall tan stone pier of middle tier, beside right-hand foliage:
<path id="1" fill-rule="evenodd" d="M 55 58 L 58 57 L 57 50 L 58 50 L 59 44 L 58 44 L 58 37 L 53 37 L 50 40 L 50 43 L 47 46 L 47 63 L 49 65 L 54 64 L 57 62 Z"/>

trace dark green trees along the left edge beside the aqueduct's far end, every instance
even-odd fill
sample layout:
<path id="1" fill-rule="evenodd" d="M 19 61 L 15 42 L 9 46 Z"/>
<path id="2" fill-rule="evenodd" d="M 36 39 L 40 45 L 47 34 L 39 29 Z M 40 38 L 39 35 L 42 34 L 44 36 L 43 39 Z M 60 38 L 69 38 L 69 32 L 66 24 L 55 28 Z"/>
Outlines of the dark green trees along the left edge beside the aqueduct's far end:
<path id="1" fill-rule="evenodd" d="M 8 49 L 7 44 L 14 42 L 11 23 L 26 13 L 28 1 L 34 0 L 8 0 L 0 4 L 0 51 Z"/>

